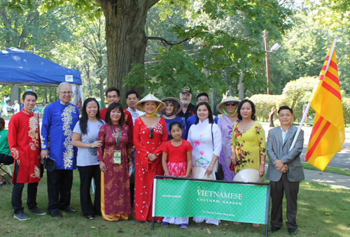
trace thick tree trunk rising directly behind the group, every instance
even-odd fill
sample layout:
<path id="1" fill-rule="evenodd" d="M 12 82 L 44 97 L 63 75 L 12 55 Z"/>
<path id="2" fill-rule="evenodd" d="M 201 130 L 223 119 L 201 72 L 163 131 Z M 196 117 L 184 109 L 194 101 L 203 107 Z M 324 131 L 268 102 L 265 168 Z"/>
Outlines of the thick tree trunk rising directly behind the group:
<path id="1" fill-rule="evenodd" d="M 144 64 L 147 38 L 145 33 L 148 10 L 159 0 L 95 0 L 106 17 L 108 87 L 120 89 L 120 103 L 126 106 L 125 94 L 143 87 L 123 87 L 123 78 L 132 70 L 131 64 Z"/>

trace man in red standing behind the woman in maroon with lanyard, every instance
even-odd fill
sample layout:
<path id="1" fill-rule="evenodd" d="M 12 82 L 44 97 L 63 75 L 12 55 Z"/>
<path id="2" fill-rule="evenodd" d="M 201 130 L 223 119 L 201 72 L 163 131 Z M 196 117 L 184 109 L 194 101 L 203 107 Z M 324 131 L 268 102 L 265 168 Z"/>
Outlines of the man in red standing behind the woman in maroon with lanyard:
<path id="1" fill-rule="evenodd" d="M 109 89 L 106 90 L 106 98 L 107 102 L 109 103 L 109 106 L 113 102 L 119 102 L 120 99 L 120 91 L 116 87 L 109 87 Z M 130 139 L 132 142 L 132 145 L 134 145 L 134 141 L 132 140 L 133 136 L 132 134 L 134 133 L 134 123 L 132 122 L 132 115 L 129 111 L 127 111 L 125 108 L 123 108 L 124 114 L 125 114 L 125 124 L 129 126 L 130 128 Z M 101 116 L 101 119 L 106 121 L 106 113 L 107 113 L 107 108 L 104 108 L 103 110 L 99 110 L 99 115 Z"/>

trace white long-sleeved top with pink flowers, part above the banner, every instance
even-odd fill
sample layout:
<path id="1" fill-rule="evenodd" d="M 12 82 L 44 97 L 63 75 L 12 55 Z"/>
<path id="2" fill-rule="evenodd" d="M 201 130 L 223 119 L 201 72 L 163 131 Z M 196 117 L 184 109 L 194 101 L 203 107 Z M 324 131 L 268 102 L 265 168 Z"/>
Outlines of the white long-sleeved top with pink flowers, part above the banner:
<path id="1" fill-rule="evenodd" d="M 221 152 L 221 131 L 217 124 L 213 124 L 213 140 L 211 138 L 211 124 L 209 119 L 198 124 L 193 124 L 188 131 L 187 140 L 191 143 L 192 150 L 192 165 L 194 167 L 208 168 L 213 154 L 220 156 Z M 213 175 L 217 168 L 217 162 L 214 165 Z"/>

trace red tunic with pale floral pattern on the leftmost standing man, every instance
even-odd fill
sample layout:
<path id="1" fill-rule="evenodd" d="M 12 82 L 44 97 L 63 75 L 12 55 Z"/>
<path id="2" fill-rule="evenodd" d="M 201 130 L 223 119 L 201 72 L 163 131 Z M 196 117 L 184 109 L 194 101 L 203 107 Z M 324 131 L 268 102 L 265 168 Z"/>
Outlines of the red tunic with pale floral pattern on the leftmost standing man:
<path id="1" fill-rule="evenodd" d="M 15 160 L 20 161 L 17 182 L 40 181 L 39 118 L 26 110 L 16 113 L 8 124 L 8 145 Z M 15 173 L 15 172 L 13 172 Z M 15 181 L 13 175 L 12 183 Z"/>

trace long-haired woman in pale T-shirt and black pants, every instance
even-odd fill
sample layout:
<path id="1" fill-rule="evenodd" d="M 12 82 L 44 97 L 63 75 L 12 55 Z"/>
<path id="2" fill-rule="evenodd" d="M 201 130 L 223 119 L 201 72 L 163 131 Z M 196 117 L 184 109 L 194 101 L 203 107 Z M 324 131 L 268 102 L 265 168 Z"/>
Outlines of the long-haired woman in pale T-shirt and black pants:
<path id="1" fill-rule="evenodd" d="M 80 206 L 84 217 L 89 220 L 101 213 L 101 172 L 97 161 L 97 148 L 102 143 L 97 141 L 97 135 L 103 124 L 104 121 L 99 116 L 99 103 L 94 98 L 87 98 L 83 104 L 80 120 L 73 129 L 71 143 L 78 148 L 76 165 L 80 176 Z M 92 178 L 96 185 L 94 204 L 90 196 Z"/>

